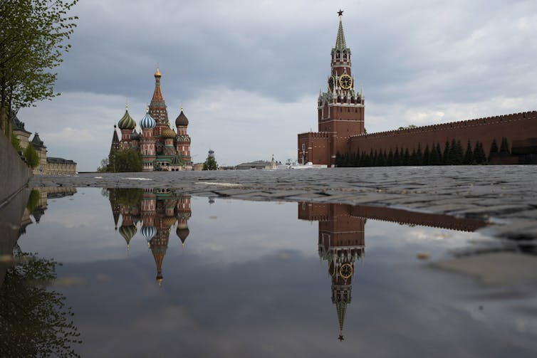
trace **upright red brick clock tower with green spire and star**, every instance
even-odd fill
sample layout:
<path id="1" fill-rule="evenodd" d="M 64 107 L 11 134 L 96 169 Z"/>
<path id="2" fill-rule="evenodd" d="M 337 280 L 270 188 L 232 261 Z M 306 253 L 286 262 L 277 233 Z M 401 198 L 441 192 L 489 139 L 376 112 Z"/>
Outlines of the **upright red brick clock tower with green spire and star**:
<path id="1" fill-rule="evenodd" d="M 348 152 L 348 139 L 364 130 L 365 98 L 363 90 L 355 90 L 351 72 L 351 52 L 343 32 L 343 11 L 338 11 L 339 27 L 335 46 L 330 52 L 330 75 L 327 90 L 319 93 L 318 129 L 328 133 L 329 165 L 335 164 L 335 154 Z"/>

